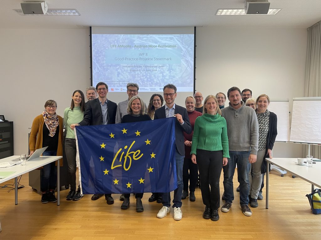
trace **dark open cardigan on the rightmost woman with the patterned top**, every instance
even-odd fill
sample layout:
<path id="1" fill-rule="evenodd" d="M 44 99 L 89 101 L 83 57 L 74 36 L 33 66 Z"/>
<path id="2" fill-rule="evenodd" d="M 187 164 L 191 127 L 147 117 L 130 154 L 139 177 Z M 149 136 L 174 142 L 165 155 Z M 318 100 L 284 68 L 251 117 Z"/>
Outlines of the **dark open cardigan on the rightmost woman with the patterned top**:
<path id="1" fill-rule="evenodd" d="M 266 157 L 269 157 L 267 154 L 267 149 L 271 149 L 274 146 L 274 142 L 275 142 L 275 138 L 276 135 L 278 135 L 278 131 L 277 131 L 277 116 L 275 113 L 270 112 L 270 117 L 269 117 L 269 132 L 267 133 L 267 139 L 266 139 L 266 149 L 265 149 L 265 155 L 264 155 L 264 159 L 263 159 L 263 163 L 261 165 L 261 173 L 266 173 Z"/>

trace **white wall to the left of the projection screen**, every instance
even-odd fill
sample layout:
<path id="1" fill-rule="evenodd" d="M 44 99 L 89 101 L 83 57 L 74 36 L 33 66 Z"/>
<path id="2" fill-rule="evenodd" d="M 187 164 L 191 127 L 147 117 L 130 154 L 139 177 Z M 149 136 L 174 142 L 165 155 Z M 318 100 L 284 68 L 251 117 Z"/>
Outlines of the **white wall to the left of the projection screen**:
<path id="1" fill-rule="evenodd" d="M 14 154 L 27 153 L 28 129 L 48 99 L 63 116 L 71 95 L 90 85 L 88 29 L 1 29 L 0 114 L 14 122 Z"/>

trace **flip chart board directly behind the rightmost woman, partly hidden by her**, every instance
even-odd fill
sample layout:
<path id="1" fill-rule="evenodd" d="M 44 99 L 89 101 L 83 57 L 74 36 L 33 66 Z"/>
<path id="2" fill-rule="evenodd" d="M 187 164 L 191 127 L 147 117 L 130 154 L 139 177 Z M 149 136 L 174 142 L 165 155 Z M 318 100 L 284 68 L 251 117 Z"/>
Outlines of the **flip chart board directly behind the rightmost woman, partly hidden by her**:
<path id="1" fill-rule="evenodd" d="M 275 113 L 278 119 L 278 135 L 275 141 L 290 141 L 289 100 L 271 100 L 268 110 Z"/>

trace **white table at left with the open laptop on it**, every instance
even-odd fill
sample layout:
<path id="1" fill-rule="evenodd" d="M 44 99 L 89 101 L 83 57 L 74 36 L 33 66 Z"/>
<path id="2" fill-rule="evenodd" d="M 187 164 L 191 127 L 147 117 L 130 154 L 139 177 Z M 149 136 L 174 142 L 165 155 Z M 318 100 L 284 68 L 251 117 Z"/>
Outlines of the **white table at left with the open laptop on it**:
<path id="1" fill-rule="evenodd" d="M 0 162 L 10 162 L 12 159 L 18 158 L 20 156 L 11 156 L 0 159 Z M 0 171 L 15 171 L 13 174 L 9 175 L 4 179 L 0 179 L 0 183 L 6 182 L 14 178 L 14 204 L 18 204 L 18 183 L 17 178 L 27 172 L 35 170 L 39 167 L 42 167 L 48 163 L 57 161 L 57 186 L 60 186 L 60 171 L 59 171 L 59 159 L 62 156 L 41 156 L 31 161 L 27 161 L 25 166 L 21 166 L 20 163 L 13 165 L 11 167 L 0 168 Z M 57 205 L 60 205 L 60 187 L 57 187 Z M 1 222 L 0 222 L 0 231 L 1 231 Z"/>

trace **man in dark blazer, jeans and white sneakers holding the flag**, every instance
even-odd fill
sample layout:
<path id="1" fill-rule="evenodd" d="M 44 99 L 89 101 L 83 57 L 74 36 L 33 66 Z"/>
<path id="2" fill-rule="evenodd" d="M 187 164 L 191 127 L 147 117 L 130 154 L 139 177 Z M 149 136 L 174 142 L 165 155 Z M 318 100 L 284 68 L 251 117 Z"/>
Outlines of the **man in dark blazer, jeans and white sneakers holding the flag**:
<path id="1" fill-rule="evenodd" d="M 154 120 L 160 118 L 167 117 L 176 117 L 175 121 L 175 144 L 176 144 L 176 174 L 177 174 L 177 184 L 178 188 L 174 191 L 174 199 L 173 199 L 173 208 L 174 208 L 174 219 L 181 220 L 182 219 L 182 192 L 183 192 L 183 163 L 185 156 L 185 147 L 184 147 L 184 135 L 183 131 L 187 134 L 192 132 L 191 124 L 189 123 L 189 118 L 187 116 L 186 108 L 178 106 L 174 103 L 175 98 L 177 96 L 176 87 L 173 84 L 167 84 L 164 86 L 164 100 L 166 104 L 158 108 L 155 111 Z M 163 193 L 163 207 L 157 214 L 158 218 L 163 218 L 170 211 L 170 193 Z"/>

